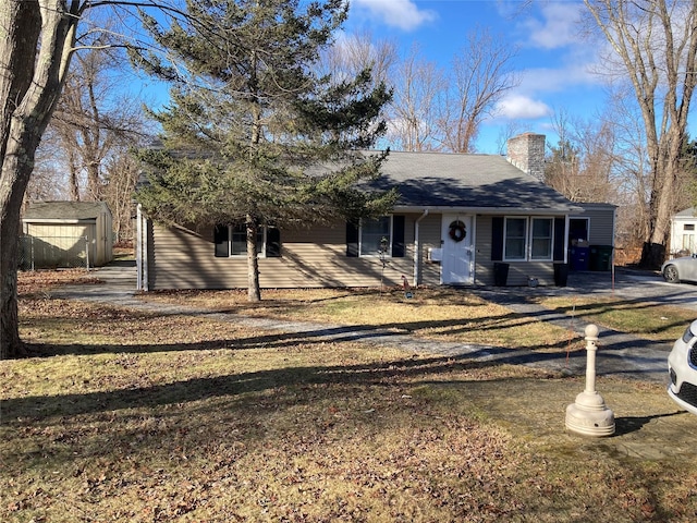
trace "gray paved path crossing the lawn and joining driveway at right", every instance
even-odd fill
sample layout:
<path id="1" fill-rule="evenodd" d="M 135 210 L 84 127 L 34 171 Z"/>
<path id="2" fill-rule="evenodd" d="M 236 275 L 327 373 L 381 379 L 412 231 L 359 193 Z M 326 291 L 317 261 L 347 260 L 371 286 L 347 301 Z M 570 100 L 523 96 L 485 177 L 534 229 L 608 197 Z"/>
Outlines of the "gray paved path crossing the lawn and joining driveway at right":
<path id="1" fill-rule="evenodd" d="M 100 283 L 64 287 L 54 291 L 53 295 L 148 311 L 161 315 L 191 314 L 205 316 L 264 330 L 294 333 L 302 338 L 315 338 L 326 341 L 357 341 L 395 346 L 418 354 L 523 364 L 579 376 L 584 375 L 586 369 L 586 351 L 583 350 L 571 352 L 570 354 L 512 351 L 505 348 L 488 345 L 424 340 L 369 327 L 360 328 L 306 321 L 249 318 L 242 315 L 211 313 L 195 307 L 147 302 L 135 296 L 136 277 L 133 263 L 114 263 L 107 267 L 95 269 L 90 272 L 90 277 L 98 278 Z M 663 289 L 660 277 L 643 272 L 617 271 L 614 280 L 609 272 L 572 273 L 568 279 L 568 287 L 564 288 L 468 288 L 466 291 L 473 292 L 487 301 L 506 306 L 514 314 L 558 325 L 576 332 L 580 337 L 584 336 L 583 332 L 588 321 L 585 321 L 582 317 L 572 318 L 546 309 L 534 303 L 533 300 L 540 295 L 612 294 L 632 302 L 670 303 L 695 308 L 695 316 L 697 317 L 697 287 L 672 285 Z M 667 357 L 671 349 L 670 344 L 660 344 L 608 329 L 601 329 L 599 338 L 598 375 L 622 375 L 651 381 L 668 381 Z"/>

